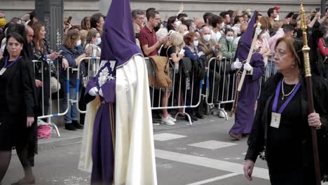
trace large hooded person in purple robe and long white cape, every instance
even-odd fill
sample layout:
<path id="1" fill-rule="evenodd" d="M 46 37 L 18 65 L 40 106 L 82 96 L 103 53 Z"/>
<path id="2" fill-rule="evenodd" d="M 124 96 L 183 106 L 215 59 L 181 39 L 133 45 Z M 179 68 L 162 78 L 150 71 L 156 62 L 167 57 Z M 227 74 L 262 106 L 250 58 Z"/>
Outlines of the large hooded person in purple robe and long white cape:
<path id="1" fill-rule="evenodd" d="M 92 168 L 91 184 L 157 184 L 148 74 L 131 20 L 130 0 L 113 0 L 99 71 L 86 88 L 87 103 L 100 99 L 88 107 L 99 106 L 86 115 L 93 132 L 85 129 L 79 163 Z"/>

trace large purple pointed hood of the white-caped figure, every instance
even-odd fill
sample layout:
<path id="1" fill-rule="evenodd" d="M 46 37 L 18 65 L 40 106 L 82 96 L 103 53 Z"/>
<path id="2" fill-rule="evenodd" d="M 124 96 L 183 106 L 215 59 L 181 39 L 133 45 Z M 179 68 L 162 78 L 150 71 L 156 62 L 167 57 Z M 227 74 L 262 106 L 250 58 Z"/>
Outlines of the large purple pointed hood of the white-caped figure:
<path id="1" fill-rule="evenodd" d="M 103 31 L 100 60 L 116 60 L 116 66 L 121 66 L 133 55 L 142 53 L 135 44 L 130 0 L 111 1 Z"/>

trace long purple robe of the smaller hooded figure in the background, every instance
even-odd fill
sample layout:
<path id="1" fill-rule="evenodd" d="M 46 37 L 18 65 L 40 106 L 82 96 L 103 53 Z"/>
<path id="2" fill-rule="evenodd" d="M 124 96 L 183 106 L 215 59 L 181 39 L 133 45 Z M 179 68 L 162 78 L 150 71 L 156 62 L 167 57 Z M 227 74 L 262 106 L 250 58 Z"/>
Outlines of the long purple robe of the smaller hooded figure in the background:
<path id="1" fill-rule="evenodd" d="M 230 130 L 234 134 L 249 134 L 252 130 L 255 102 L 257 102 L 259 95 L 259 80 L 264 74 L 263 56 L 254 53 L 250 65 L 253 67 L 253 74 L 245 76 L 245 81 L 239 93 L 235 124 Z"/>

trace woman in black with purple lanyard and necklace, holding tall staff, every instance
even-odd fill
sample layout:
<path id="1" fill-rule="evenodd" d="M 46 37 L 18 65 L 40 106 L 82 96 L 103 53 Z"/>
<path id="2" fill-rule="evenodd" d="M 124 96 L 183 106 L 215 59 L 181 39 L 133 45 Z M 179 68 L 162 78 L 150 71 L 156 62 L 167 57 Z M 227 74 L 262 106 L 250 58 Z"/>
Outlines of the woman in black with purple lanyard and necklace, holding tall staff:
<path id="1" fill-rule="evenodd" d="M 327 170 L 328 81 L 313 76 L 315 112 L 308 114 L 308 97 L 303 76 L 303 41 L 278 39 L 275 68 L 259 98 L 257 114 L 248 139 L 244 172 L 252 179 L 257 156 L 264 151 L 271 184 L 315 184 L 310 128 L 317 129 L 320 167 Z M 325 154 L 324 154 L 325 153 Z"/>

